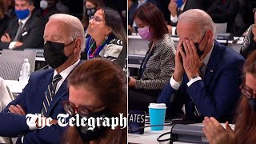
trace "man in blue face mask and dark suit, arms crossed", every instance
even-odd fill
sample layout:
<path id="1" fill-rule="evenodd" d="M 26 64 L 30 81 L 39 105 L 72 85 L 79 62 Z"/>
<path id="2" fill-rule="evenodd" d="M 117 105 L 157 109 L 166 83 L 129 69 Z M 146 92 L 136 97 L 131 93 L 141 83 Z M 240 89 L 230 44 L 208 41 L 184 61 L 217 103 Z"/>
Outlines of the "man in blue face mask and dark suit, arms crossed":
<path id="1" fill-rule="evenodd" d="M 33 0 L 15 0 L 16 17 L 10 19 L 6 33 L 2 35 L 0 50 L 24 50 L 42 48 L 43 22 L 32 14 Z"/>

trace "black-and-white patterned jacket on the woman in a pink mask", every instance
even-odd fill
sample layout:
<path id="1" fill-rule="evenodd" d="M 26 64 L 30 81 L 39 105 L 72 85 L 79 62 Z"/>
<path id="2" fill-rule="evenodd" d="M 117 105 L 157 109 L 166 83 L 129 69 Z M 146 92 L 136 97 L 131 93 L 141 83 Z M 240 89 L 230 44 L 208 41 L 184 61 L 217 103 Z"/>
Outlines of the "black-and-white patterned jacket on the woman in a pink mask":
<path id="1" fill-rule="evenodd" d="M 142 78 L 136 81 L 136 89 L 162 90 L 174 73 L 176 50 L 174 41 L 170 39 L 170 34 L 164 34 L 162 38 L 158 39 L 150 53 L 149 51 L 152 44 L 153 42 L 149 43 L 149 50 L 146 57 L 148 54 L 151 55 L 146 62 Z"/>

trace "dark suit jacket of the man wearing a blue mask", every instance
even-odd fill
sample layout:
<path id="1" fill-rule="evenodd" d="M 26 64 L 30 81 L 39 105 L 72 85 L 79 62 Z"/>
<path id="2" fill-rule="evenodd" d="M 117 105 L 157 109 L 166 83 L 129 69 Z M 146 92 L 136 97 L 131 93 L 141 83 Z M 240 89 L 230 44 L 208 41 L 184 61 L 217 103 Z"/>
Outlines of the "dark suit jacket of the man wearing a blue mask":
<path id="1" fill-rule="evenodd" d="M 15 16 L 10 19 L 6 33 L 10 34 L 11 40 L 14 39 L 16 32 L 18 30 L 18 18 Z M 26 35 L 23 35 L 27 32 Z M 41 19 L 32 14 L 27 20 L 25 26 L 23 26 L 21 33 L 18 35 L 18 41 L 23 42 L 22 46 L 15 48 L 14 50 L 24 50 L 25 48 L 42 48 L 43 46 L 43 32 L 44 25 Z M 0 41 L 0 50 L 9 49 L 8 46 L 10 42 Z"/>

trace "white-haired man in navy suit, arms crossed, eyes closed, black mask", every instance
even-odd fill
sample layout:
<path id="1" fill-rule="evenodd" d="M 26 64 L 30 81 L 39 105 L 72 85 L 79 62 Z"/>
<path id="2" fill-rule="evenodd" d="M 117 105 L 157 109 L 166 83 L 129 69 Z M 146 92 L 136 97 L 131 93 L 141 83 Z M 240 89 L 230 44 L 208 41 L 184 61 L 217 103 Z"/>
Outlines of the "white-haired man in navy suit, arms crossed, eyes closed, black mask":
<path id="1" fill-rule="evenodd" d="M 41 127 L 37 118 L 28 126 L 26 114 L 42 114 L 57 119 L 66 114 L 62 102 L 68 99 L 66 78 L 78 66 L 84 40 L 84 29 L 78 18 L 68 14 L 54 14 L 44 32 L 44 56 L 53 68 L 31 74 L 21 94 L 0 113 L 0 136 L 15 137 L 23 143 L 61 143 L 64 127 L 50 121 Z"/>

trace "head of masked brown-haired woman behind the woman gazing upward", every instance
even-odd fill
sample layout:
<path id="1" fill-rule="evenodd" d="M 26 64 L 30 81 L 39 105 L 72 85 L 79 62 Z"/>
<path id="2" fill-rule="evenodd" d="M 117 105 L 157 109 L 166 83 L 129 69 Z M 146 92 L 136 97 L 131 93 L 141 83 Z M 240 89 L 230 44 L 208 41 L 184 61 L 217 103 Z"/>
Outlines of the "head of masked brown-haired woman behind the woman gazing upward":
<path id="1" fill-rule="evenodd" d="M 82 26 L 85 31 L 89 25 L 89 18 L 93 16 L 100 7 L 105 6 L 103 0 L 86 0 L 84 2 L 85 13 L 82 16 Z"/>

